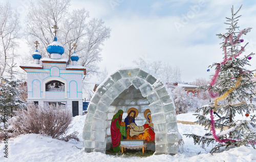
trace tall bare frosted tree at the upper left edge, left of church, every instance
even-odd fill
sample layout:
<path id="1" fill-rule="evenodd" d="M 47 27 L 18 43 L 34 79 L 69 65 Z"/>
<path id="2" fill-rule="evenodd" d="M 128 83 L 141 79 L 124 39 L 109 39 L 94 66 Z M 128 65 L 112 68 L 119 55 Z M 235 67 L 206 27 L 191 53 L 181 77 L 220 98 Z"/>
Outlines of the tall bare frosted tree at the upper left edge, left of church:
<path id="1" fill-rule="evenodd" d="M 20 37 L 18 14 L 14 13 L 8 2 L 0 3 L 0 76 L 12 64 L 13 54 L 18 48 L 17 39 Z"/>

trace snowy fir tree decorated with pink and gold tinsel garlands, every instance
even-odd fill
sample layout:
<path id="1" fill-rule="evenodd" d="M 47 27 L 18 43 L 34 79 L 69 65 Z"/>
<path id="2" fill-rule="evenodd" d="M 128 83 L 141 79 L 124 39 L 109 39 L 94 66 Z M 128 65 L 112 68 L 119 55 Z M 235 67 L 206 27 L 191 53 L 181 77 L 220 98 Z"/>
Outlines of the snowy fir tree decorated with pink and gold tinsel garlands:
<path id="1" fill-rule="evenodd" d="M 239 30 L 237 25 L 241 16 L 237 16 L 239 10 L 234 13 L 233 7 L 231 8 L 232 17 L 226 18 L 225 23 L 229 25 L 226 29 L 227 33 L 217 34 L 224 40 L 221 43 L 224 58 L 221 63 L 209 66 L 216 66 L 215 75 L 208 86 L 200 87 L 204 91 L 209 91 L 211 98 L 214 98 L 214 102 L 196 111 L 198 113 L 196 122 L 210 128 L 210 133 L 206 133 L 205 136 L 185 134 L 187 137 L 192 137 L 195 144 L 215 143 L 211 153 L 222 151 L 229 146 L 251 145 L 255 149 L 256 144 L 255 115 L 247 117 L 248 120 L 234 119 L 237 114 L 246 113 L 248 116 L 250 109 L 255 109 L 255 106 L 248 102 L 253 98 L 252 91 L 255 88 L 251 80 L 252 71 L 245 69 L 254 53 L 241 57 L 248 44 L 243 45 L 242 35 L 250 32 L 251 28 Z M 214 114 L 217 116 L 214 117 Z M 218 134 L 216 134 L 217 128 L 221 129 Z"/>

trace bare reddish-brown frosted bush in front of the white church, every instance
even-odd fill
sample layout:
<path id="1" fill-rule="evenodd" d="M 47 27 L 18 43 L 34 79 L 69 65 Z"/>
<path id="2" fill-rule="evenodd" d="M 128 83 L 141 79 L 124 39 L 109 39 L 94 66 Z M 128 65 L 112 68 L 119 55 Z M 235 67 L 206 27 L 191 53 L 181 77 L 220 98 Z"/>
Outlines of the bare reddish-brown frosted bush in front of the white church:
<path id="1" fill-rule="evenodd" d="M 43 134 L 59 139 L 68 129 L 72 114 L 59 105 L 40 106 L 28 103 L 27 109 L 9 120 L 14 136 L 26 133 Z"/>

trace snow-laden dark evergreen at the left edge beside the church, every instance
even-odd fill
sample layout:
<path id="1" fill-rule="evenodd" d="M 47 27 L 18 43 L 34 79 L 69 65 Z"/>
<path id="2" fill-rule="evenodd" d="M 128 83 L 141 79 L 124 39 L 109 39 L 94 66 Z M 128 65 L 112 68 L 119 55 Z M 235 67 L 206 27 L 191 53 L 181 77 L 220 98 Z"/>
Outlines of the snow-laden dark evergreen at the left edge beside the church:
<path id="1" fill-rule="evenodd" d="M 18 111 L 24 107 L 24 101 L 19 97 L 22 90 L 19 89 L 22 80 L 16 78 L 0 78 L 0 113 L 8 113 L 9 117 L 14 115 L 13 111 Z"/>

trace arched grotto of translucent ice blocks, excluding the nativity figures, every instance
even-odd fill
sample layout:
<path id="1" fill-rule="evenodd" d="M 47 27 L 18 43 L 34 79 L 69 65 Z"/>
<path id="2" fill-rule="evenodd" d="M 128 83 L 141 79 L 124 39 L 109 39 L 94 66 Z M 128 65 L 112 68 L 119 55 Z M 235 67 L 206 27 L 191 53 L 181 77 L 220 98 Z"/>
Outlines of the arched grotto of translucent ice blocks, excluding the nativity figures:
<path id="1" fill-rule="evenodd" d="M 138 125 L 144 124 L 143 112 L 151 110 L 156 153 L 178 153 L 179 132 L 172 96 L 156 74 L 142 67 L 119 69 L 99 85 L 83 127 L 84 151 L 105 153 L 111 146 L 113 115 L 121 109 L 124 120 L 130 107 L 140 112 L 135 119 Z"/>

